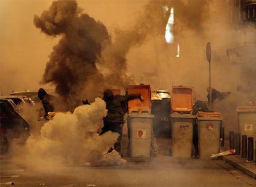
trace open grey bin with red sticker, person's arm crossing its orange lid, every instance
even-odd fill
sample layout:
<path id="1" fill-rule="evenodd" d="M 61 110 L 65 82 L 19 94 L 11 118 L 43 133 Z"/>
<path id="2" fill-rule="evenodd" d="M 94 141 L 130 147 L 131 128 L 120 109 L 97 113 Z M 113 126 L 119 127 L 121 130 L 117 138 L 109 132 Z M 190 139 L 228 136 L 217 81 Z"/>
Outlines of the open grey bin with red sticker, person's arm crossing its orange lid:
<path id="1" fill-rule="evenodd" d="M 128 155 L 129 157 L 150 157 L 152 121 L 151 92 L 149 85 L 129 86 L 128 94 L 140 93 L 144 101 L 139 99 L 128 101 Z"/>

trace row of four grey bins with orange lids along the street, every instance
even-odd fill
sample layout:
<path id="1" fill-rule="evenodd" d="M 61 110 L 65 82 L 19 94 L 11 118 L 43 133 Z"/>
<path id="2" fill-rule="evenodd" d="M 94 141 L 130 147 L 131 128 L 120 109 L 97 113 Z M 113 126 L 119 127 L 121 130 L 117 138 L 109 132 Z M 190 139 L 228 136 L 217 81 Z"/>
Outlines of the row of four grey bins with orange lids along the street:
<path id="1" fill-rule="evenodd" d="M 221 127 L 223 117 L 219 112 L 202 112 L 192 114 L 194 104 L 193 87 L 173 86 L 169 109 L 159 108 L 160 114 L 152 113 L 150 85 L 133 85 L 127 94 L 142 94 L 144 101 L 139 99 L 128 102 L 127 129 L 129 138 L 129 157 L 150 157 L 151 140 L 156 137 L 171 137 L 173 157 L 191 157 L 193 149 L 193 130 L 197 129 L 198 157 L 209 159 L 212 154 L 220 153 Z M 163 111 L 163 109 L 165 109 Z M 169 112 L 166 123 L 156 121 L 160 115 Z M 256 108 L 239 106 L 239 133 L 256 140 Z M 154 125 L 158 122 L 157 125 Z M 162 121 L 163 122 L 163 121 Z M 153 127 L 154 125 L 154 127 Z M 161 126 L 163 125 L 163 126 Z M 154 132 L 154 133 L 153 133 Z"/>

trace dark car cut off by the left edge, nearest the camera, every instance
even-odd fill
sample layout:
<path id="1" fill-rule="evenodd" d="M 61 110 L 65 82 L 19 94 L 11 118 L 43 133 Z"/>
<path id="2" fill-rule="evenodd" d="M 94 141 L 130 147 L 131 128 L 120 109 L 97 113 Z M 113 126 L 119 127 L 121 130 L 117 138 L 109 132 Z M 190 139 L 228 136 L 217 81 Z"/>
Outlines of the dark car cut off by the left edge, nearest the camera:
<path id="1" fill-rule="evenodd" d="M 11 99 L 0 98 L 1 151 L 5 152 L 12 143 L 23 145 L 30 136 L 30 125 Z"/>

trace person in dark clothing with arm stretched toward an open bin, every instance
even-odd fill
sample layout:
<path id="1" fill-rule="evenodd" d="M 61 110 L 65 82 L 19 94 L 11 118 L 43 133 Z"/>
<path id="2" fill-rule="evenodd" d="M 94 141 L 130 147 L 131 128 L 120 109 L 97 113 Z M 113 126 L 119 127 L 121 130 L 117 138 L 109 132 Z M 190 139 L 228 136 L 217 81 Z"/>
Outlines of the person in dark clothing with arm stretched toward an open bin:
<path id="1" fill-rule="evenodd" d="M 124 114 L 127 112 L 127 102 L 135 98 L 143 101 L 141 94 L 114 95 L 110 89 L 104 91 L 103 100 L 106 102 L 108 114 L 104 117 L 104 126 L 101 129 L 100 135 L 109 130 L 119 133 L 119 137 L 116 143 L 114 143 L 114 149 L 119 154 L 121 154 L 122 126 L 124 124 Z M 113 148 L 109 149 L 108 152 L 111 151 L 113 151 Z"/>

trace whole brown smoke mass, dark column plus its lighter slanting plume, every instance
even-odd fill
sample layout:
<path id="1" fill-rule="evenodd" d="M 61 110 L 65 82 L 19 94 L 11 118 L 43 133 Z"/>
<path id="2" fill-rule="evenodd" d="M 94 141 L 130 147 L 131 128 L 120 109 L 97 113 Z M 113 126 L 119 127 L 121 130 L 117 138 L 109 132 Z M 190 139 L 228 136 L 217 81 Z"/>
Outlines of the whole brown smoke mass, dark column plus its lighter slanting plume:
<path id="1" fill-rule="evenodd" d="M 127 54 L 152 34 L 163 34 L 167 20 L 163 2 L 151 1 L 129 30 L 116 28 L 111 43 L 105 25 L 82 14 L 77 2 L 54 1 L 41 17 L 34 18 L 43 33 L 61 36 L 49 56 L 41 84 L 56 86 L 56 92 L 73 108 L 81 95 L 92 99 L 103 87 L 125 89 L 135 84 L 127 76 Z"/>

